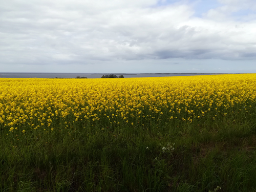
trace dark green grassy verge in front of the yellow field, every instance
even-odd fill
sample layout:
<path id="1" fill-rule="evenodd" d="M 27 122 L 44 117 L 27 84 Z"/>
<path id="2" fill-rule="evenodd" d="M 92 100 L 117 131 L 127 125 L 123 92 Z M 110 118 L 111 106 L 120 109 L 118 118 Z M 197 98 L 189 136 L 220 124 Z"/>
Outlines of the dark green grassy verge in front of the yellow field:
<path id="1" fill-rule="evenodd" d="M 255 123 L 2 130 L 0 191 L 256 191 Z"/>

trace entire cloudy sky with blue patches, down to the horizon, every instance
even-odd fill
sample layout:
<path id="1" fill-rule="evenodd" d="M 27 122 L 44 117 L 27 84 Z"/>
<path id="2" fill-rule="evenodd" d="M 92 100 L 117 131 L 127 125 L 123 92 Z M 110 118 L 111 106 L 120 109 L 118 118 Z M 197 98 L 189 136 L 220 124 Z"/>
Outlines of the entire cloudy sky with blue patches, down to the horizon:
<path id="1" fill-rule="evenodd" d="M 256 73 L 256 1 L 0 0 L 0 72 Z"/>

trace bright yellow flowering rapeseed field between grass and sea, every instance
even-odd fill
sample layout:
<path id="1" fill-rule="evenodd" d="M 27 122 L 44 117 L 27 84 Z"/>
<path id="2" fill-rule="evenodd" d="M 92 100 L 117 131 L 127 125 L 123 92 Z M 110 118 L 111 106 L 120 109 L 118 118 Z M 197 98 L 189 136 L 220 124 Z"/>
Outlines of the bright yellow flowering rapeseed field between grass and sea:
<path id="1" fill-rule="evenodd" d="M 255 110 L 256 74 L 116 79 L 0 79 L 0 127 L 145 126 Z"/>

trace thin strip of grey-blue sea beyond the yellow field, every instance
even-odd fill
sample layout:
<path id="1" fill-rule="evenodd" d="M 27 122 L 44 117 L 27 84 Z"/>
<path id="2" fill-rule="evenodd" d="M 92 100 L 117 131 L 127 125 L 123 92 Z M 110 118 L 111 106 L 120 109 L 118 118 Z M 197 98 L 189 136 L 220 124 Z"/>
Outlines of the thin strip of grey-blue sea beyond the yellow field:
<path id="1" fill-rule="evenodd" d="M 100 78 L 106 74 L 92 74 L 92 73 L 0 73 L 0 78 L 75 78 L 77 76 L 87 78 Z M 119 76 L 120 74 L 115 74 Z M 171 77 L 171 76 L 191 76 L 191 75 L 204 75 L 204 74 L 132 74 L 123 75 L 127 77 Z"/>

